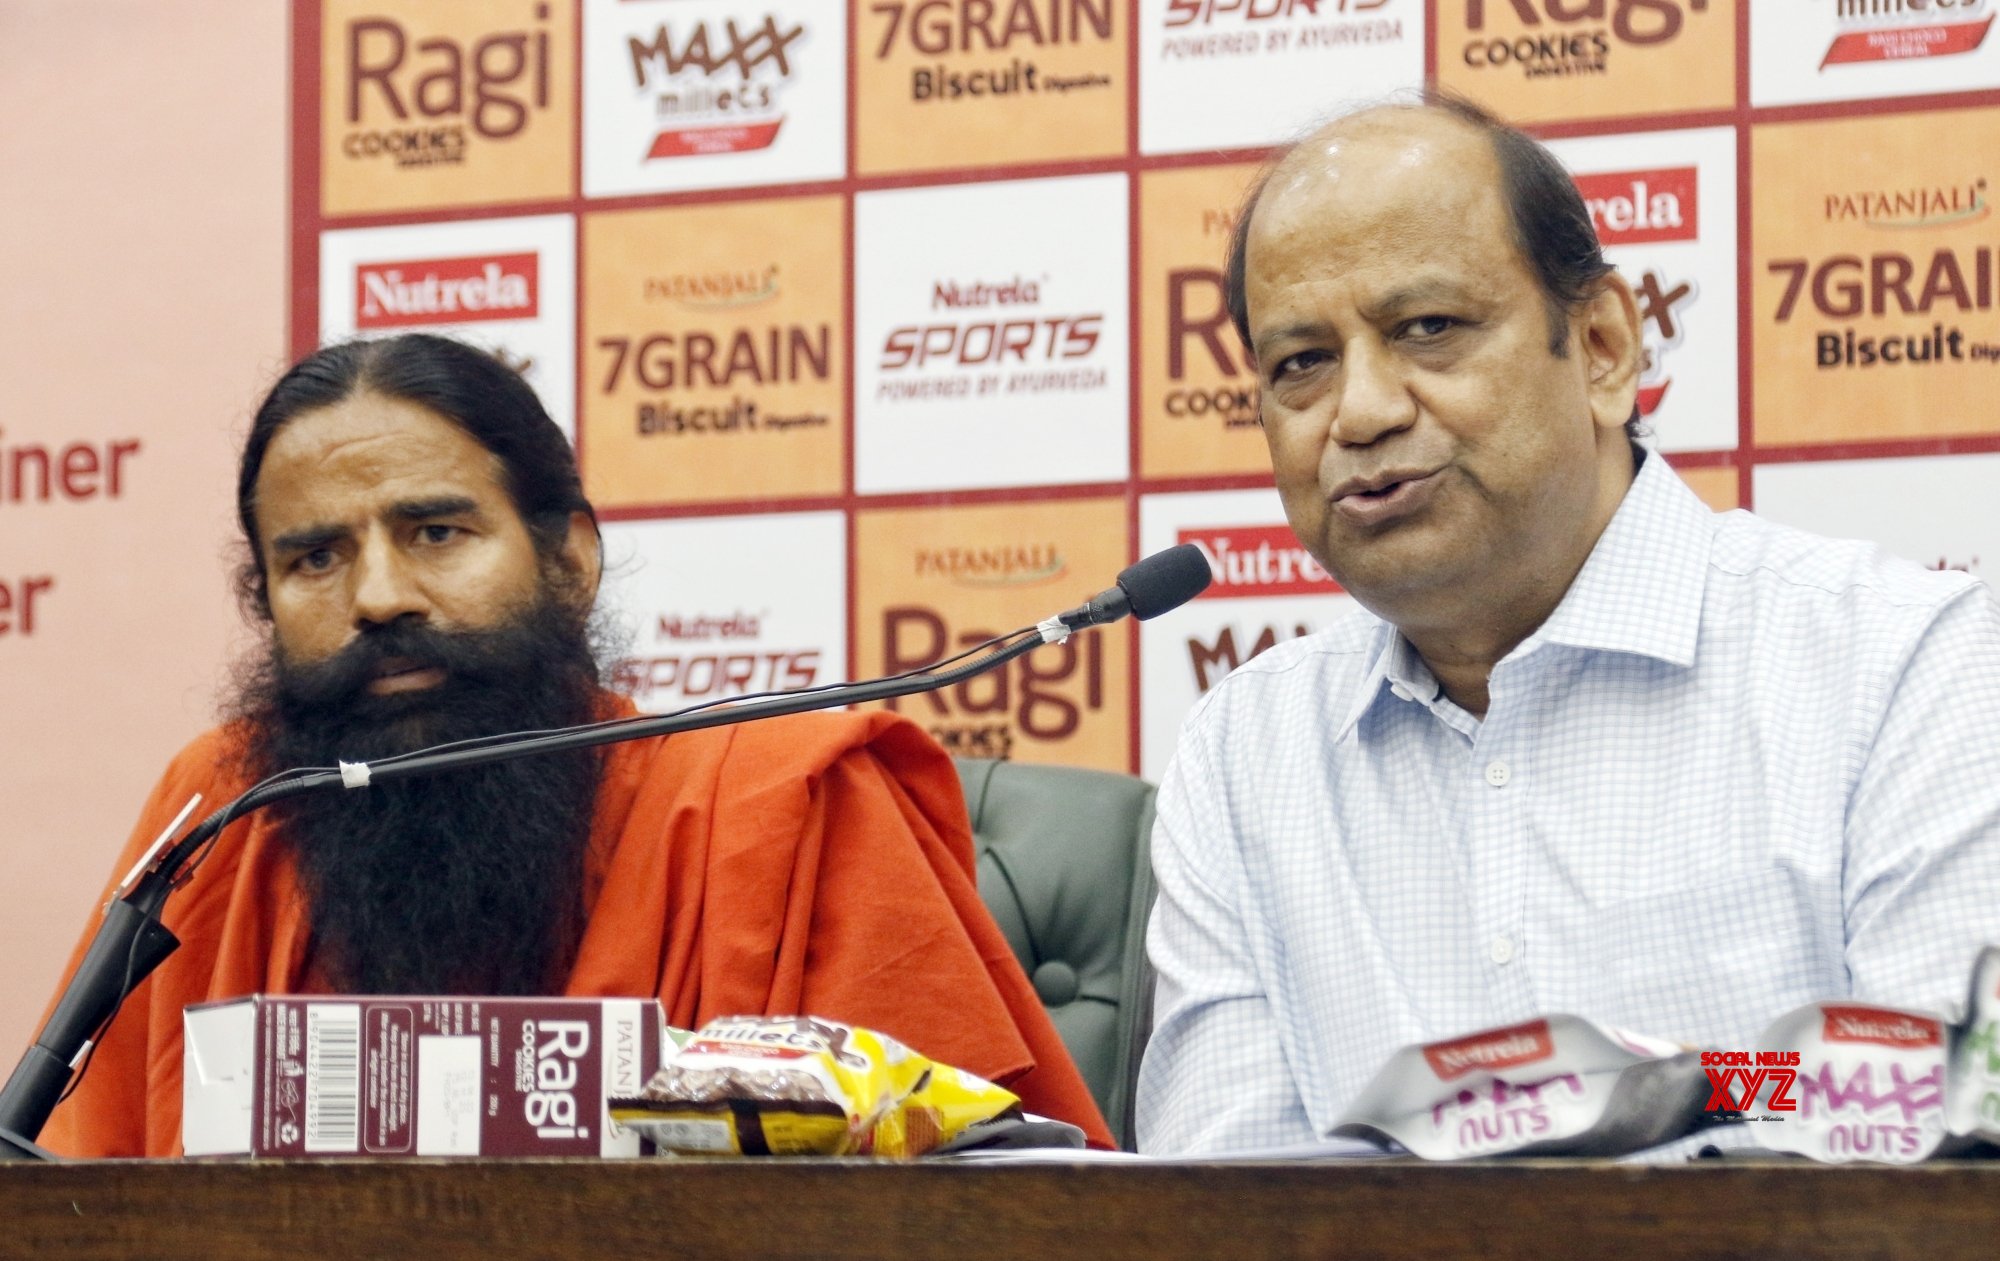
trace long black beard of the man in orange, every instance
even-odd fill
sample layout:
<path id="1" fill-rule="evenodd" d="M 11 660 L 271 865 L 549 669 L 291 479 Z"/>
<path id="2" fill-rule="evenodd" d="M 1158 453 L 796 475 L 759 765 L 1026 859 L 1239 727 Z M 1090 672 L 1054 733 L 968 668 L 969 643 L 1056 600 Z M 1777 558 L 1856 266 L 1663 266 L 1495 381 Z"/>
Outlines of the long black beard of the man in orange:
<path id="1" fill-rule="evenodd" d="M 392 657 L 442 667 L 446 679 L 370 695 Z M 312 665 L 274 647 L 238 683 L 236 713 L 262 777 L 588 723 L 596 683 L 580 618 L 544 598 L 490 630 L 392 622 Z M 598 755 L 582 749 L 276 807 L 308 899 L 314 965 L 362 995 L 560 989 L 582 935 L 598 775 Z"/>

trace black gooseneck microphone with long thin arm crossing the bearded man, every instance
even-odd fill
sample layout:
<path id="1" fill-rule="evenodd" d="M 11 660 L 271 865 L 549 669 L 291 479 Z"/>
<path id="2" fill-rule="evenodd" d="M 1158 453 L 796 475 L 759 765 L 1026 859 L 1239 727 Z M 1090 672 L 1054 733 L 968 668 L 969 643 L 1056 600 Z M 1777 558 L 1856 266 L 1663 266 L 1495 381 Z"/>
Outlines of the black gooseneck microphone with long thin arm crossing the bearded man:
<path id="1" fill-rule="evenodd" d="M 730 723 L 750 723 L 814 709 L 836 709 L 928 693 L 962 683 L 974 675 L 984 675 L 1042 645 L 1062 643 L 1086 626 L 1102 626 L 1126 614 L 1136 614 L 1138 618 L 1158 616 L 1200 594 L 1208 586 L 1208 560 L 1190 542 L 1154 552 L 1120 572 L 1116 586 L 1098 592 L 1068 612 L 1058 612 L 1034 626 L 1004 635 L 1000 637 L 1000 647 L 992 653 L 948 671 L 932 667 L 868 683 L 698 705 L 670 715 L 462 741 L 374 763 L 340 763 L 338 769 L 286 771 L 202 819 L 168 849 L 166 841 L 182 823 L 182 819 L 176 819 L 160 843 L 154 845 L 152 853 L 140 861 L 140 867 L 126 877 L 106 903 L 104 923 L 98 927 L 96 937 L 90 939 L 90 947 L 84 951 L 84 959 L 76 965 L 76 973 L 56 1001 L 56 1009 L 42 1025 L 34 1045 L 28 1047 L 14 1073 L 6 1079 L 6 1087 L 0 1087 L 0 1161 L 52 1159 L 48 1151 L 36 1147 L 34 1139 L 62 1101 L 62 1093 L 78 1063 L 118 1013 L 118 1005 L 124 1003 L 126 995 L 180 947 L 180 941 L 160 923 L 168 895 L 192 877 L 194 867 L 200 865 L 200 855 L 214 843 L 222 829 L 252 811 L 306 793 L 366 789 L 396 779 L 462 771 L 542 753 L 592 749 L 618 741 L 642 741 L 682 731 L 700 731 L 704 727 L 724 727 Z"/>

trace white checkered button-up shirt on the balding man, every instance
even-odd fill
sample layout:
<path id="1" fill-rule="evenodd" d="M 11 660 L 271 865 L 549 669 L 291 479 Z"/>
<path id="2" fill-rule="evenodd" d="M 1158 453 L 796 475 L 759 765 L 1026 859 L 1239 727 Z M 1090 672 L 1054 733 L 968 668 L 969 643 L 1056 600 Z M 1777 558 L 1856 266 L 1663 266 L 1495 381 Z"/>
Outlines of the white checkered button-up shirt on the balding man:
<path id="1" fill-rule="evenodd" d="M 1956 1013 L 2000 941 L 2000 606 L 1710 512 L 1646 458 L 1486 719 L 1358 612 L 1194 709 L 1160 787 L 1142 1151 L 1326 1135 L 1398 1047 L 1538 1013 L 1750 1049 Z"/>

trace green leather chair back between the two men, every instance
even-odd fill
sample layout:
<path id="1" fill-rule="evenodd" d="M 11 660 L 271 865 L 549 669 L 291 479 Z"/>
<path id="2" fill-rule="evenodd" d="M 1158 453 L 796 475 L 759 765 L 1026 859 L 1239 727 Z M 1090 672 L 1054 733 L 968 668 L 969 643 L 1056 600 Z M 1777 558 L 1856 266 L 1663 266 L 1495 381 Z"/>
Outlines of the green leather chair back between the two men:
<path id="1" fill-rule="evenodd" d="M 980 897 L 1056 1033 L 1132 1147 L 1132 1085 L 1152 1027 L 1154 787 L 1130 775 L 954 759 L 972 813 Z"/>

